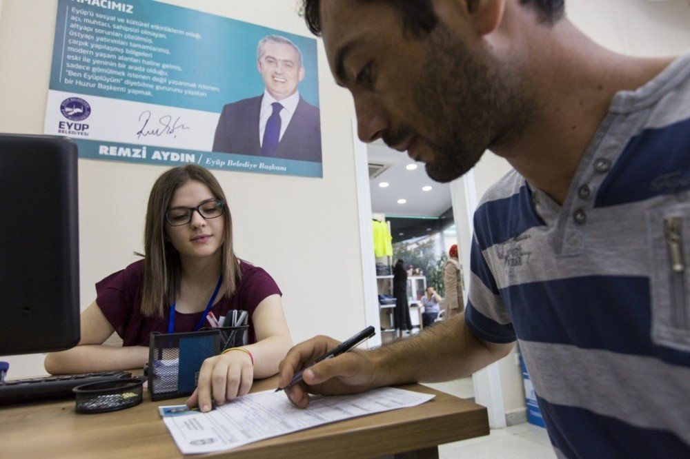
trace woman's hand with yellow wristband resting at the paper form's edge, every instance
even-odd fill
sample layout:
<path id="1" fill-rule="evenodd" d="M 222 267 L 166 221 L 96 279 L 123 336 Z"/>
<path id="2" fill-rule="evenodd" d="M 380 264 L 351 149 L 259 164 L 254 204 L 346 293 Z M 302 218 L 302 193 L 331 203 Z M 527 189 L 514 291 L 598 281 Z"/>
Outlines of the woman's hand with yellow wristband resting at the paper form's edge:
<path id="1" fill-rule="evenodd" d="M 201 412 L 211 410 L 211 401 L 217 406 L 249 392 L 254 380 L 254 366 L 250 356 L 239 349 L 204 360 L 199 370 L 197 389 L 188 398 L 187 406 L 199 407 Z"/>

